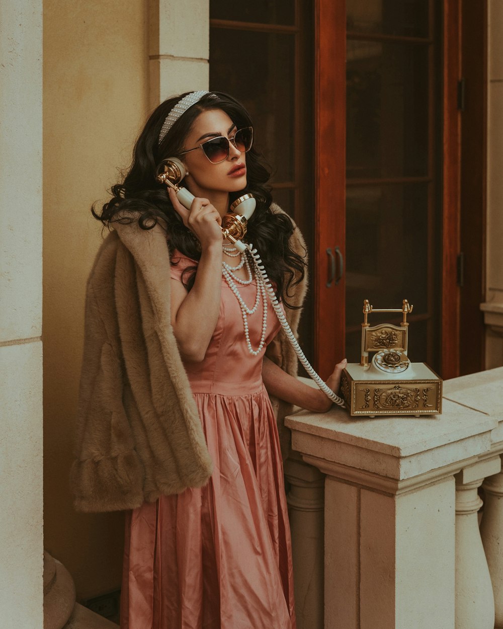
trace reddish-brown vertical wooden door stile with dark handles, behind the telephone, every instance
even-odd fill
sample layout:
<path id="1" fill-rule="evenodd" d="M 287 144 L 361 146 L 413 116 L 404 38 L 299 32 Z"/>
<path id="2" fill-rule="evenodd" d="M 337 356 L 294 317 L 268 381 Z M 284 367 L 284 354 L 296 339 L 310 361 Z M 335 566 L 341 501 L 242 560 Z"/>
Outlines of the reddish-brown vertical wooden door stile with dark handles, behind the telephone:
<path id="1" fill-rule="evenodd" d="M 314 0 L 314 365 L 321 377 L 345 355 L 344 274 L 327 286 L 327 249 L 346 255 L 345 33 L 345 0 Z"/>

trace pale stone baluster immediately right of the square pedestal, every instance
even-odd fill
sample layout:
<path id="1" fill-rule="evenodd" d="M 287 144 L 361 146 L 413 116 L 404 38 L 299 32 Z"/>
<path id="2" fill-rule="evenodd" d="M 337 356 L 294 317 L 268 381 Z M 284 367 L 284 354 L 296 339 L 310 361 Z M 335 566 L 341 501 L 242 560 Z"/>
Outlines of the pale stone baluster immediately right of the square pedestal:
<path id="1" fill-rule="evenodd" d="M 482 506 L 477 489 L 501 469 L 500 457 L 469 465 L 456 474 L 456 629 L 494 629 L 494 595 L 478 528 Z"/>

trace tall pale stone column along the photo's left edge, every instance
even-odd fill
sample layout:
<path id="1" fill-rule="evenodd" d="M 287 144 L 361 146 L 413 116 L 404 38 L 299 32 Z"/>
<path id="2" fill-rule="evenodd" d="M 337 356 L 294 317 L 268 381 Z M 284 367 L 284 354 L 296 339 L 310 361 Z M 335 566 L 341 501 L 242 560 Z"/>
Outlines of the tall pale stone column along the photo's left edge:
<path id="1" fill-rule="evenodd" d="M 0 21 L 0 624 L 43 625 L 42 3 Z"/>

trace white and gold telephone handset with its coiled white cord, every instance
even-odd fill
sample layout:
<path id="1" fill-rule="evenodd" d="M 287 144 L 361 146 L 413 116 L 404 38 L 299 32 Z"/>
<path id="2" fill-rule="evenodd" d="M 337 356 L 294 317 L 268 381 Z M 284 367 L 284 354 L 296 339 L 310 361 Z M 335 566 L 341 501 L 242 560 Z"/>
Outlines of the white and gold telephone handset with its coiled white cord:
<path id="1" fill-rule="evenodd" d="M 168 187 L 174 189 L 177 199 L 180 203 L 187 209 L 191 209 L 192 201 L 194 201 L 194 195 L 191 194 L 187 190 L 187 188 L 179 187 L 178 184 L 182 179 L 184 179 L 187 170 L 185 170 L 185 166 L 180 162 L 176 157 L 170 157 L 167 160 L 163 160 L 157 169 L 157 181 L 166 184 Z M 281 309 L 279 301 L 276 298 L 273 287 L 271 286 L 270 280 L 267 277 L 265 272 L 265 268 L 262 264 L 262 260 L 260 259 L 260 255 L 257 253 L 257 249 L 253 248 L 253 245 L 245 245 L 241 242 L 241 238 L 243 238 L 246 234 L 246 224 L 248 223 L 248 219 L 252 216 L 253 211 L 255 211 L 255 199 L 252 194 L 244 194 L 240 198 L 236 199 L 233 204 L 231 204 L 231 212 L 225 214 L 223 217 L 223 227 L 222 227 L 222 236 L 229 240 L 236 247 L 238 251 L 244 253 L 247 251 L 250 253 L 250 256 L 253 260 L 253 265 L 255 266 L 255 270 L 262 277 L 262 281 L 271 301 L 272 307 L 277 315 L 279 322 L 282 325 L 282 328 L 285 330 L 285 333 L 292 344 L 292 347 L 296 351 L 299 360 L 301 361 L 306 372 L 311 376 L 311 378 L 318 384 L 321 391 L 328 396 L 333 402 L 345 408 L 345 403 L 342 398 L 336 395 L 330 387 L 328 387 L 325 382 L 318 376 L 316 371 L 309 364 L 309 360 L 307 360 L 304 352 L 302 352 L 301 346 L 297 342 L 294 333 L 292 332 L 288 321 Z M 240 208 L 240 214 L 236 214 L 236 208 Z"/>

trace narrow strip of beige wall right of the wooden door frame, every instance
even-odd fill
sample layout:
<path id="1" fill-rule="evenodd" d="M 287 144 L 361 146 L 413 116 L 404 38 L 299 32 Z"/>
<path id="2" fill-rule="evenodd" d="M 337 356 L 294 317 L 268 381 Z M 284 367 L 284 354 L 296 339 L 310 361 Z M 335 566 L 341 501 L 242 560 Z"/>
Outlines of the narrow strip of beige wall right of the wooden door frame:
<path id="1" fill-rule="evenodd" d="M 489 0 L 486 369 L 503 365 L 503 0 Z"/>

